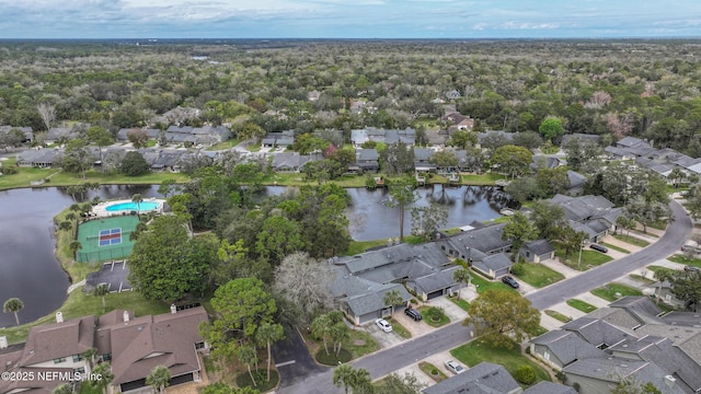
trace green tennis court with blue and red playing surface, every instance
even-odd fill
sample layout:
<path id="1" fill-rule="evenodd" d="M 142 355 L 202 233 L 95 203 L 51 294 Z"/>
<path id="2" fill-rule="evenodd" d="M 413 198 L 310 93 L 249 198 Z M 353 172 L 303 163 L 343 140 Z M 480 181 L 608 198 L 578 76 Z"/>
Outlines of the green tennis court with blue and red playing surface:
<path id="1" fill-rule="evenodd" d="M 78 227 L 79 263 L 104 262 L 125 258 L 131 254 L 134 241 L 129 235 L 139 219 L 134 216 L 103 218 L 87 221 Z"/>

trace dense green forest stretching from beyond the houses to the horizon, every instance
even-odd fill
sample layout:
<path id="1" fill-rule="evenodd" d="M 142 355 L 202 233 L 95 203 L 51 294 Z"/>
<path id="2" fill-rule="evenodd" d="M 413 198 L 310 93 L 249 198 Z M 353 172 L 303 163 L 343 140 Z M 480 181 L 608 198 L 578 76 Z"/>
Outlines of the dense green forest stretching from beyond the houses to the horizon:
<path id="1" fill-rule="evenodd" d="M 83 121 L 116 132 L 180 105 L 203 109 L 192 126 L 231 125 L 242 137 L 348 132 L 417 127 L 437 119 L 445 101 L 478 131 L 537 131 L 556 116 L 566 132 L 637 136 L 701 155 L 697 40 L 140 44 L 0 43 L 0 124 L 37 131 Z M 348 111 L 354 102 L 371 111 Z M 53 124 L 39 105 L 55 108 Z"/>

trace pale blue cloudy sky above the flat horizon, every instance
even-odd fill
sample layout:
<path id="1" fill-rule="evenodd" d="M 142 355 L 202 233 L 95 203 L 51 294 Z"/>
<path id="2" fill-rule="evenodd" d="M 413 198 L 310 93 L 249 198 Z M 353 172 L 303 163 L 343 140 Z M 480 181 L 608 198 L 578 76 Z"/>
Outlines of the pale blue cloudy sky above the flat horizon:
<path id="1" fill-rule="evenodd" d="M 0 0 L 0 38 L 701 37 L 700 0 Z"/>

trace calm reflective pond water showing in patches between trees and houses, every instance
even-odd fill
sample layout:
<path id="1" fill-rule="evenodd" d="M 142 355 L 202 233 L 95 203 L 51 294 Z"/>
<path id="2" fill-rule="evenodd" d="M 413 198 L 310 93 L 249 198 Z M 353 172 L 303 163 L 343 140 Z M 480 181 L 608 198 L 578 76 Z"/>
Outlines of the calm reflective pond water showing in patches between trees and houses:
<path id="1" fill-rule="evenodd" d="M 158 185 L 110 185 L 90 192 L 85 199 L 161 197 Z M 279 195 L 285 187 L 269 186 L 264 195 Z M 428 186 L 416 190 L 420 206 L 429 201 L 448 208 L 446 228 L 487 221 L 499 217 L 499 209 L 514 201 L 495 187 Z M 384 202 L 387 190 L 350 188 L 352 207 L 346 212 L 350 235 L 358 241 L 399 236 L 398 210 Z M 53 217 L 73 202 L 65 188 L 24 188 L 0 192 L 0 303 L 12 297 L 24 302 L 20 322 L 30 322 L 51 313 L 66 299 L 70 285 L 54 255 Z M 411 217 L 406 211 L 404 234 L 410 234 Z M 11 313 L 0 313 L 0 327 L 14 325 Z"/>

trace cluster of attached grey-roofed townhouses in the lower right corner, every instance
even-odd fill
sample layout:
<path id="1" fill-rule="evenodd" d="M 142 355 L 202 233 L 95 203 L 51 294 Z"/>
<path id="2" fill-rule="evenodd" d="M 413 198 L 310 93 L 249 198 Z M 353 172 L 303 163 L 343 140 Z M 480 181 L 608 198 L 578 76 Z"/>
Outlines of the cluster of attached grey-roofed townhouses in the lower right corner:
<path id="1" fill-rule="evenodd" d="M 584 394 L 608 393 L 622 379 L 664 393 L 701 392 L 698 314 L 662 314 L 647 297 L 623 297 L 532 339 L 531 355 Z"/>

